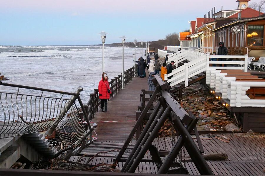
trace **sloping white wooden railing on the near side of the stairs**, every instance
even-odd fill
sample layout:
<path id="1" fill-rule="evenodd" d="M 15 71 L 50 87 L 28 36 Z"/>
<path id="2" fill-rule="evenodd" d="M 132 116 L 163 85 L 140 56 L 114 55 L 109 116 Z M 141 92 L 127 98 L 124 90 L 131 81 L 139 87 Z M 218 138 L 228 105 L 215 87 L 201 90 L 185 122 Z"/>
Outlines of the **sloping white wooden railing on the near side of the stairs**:
<path id="1" fill-rule="evenodd" d="M 173 70 L 172 73 L 165 75 L 165 79 L 170 82 L 170 86 L 185 81 L 185 87 L 188 86 L 188 79 L 206 70 L 206 54 L 194 51 L 185 52 L 185 59 L 188 63 Z M 168 79 L 168 77 L 172 78 Z"/>

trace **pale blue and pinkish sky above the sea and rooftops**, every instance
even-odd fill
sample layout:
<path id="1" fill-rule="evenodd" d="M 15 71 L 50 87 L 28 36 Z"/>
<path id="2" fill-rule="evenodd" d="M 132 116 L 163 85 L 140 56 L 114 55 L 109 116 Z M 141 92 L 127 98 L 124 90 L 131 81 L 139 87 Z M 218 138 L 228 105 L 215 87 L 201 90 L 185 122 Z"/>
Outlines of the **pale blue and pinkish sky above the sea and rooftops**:
<path id="1" fill-rule="evenodd" d="M 251 0 L 259 2 L 260 0 Z M 236 0 L 0 0 L 0 45 L 101 44 L 154 41 L 189 29 L 188 21 Z"/>

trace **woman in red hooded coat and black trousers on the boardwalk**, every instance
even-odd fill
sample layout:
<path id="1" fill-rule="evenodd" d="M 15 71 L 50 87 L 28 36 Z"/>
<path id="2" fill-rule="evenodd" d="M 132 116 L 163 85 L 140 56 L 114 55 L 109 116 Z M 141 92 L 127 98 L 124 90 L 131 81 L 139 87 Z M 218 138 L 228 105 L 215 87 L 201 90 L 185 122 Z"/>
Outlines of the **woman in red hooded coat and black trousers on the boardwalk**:
<path id="1" fill-rule="evenodd" d="M 103 112 L 103 107 L 105 105 L 104 112 L 107 112 L 108 99 L 110 99 L 111 90 L 108 82 L 109 78 L 105 72 L 102 73 L 102 78 L 98 83 L 98 93 L 101 99 L 101 111 Z"/>

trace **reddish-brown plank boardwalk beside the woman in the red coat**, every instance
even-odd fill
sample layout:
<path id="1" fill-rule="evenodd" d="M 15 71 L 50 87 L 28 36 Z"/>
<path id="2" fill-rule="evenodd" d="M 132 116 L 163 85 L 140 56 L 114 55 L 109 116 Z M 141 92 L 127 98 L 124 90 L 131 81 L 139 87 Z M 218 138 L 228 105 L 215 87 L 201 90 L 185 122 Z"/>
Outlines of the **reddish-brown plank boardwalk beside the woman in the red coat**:
<path id="1" fill-rule="evenodd" d="M 135 77 L 123 90 L 108 101 L 107 112 L 98 112 L 92 122 L 97 123 L 96 133 L 100 141 L 125 140 L 135 124 L 141 89 L 148 90 L 148 73 L 145 78 Z M 106 122 L 108 121 L 108 122 Z M 112 122 L 114 121 L 114 122 Z"/>

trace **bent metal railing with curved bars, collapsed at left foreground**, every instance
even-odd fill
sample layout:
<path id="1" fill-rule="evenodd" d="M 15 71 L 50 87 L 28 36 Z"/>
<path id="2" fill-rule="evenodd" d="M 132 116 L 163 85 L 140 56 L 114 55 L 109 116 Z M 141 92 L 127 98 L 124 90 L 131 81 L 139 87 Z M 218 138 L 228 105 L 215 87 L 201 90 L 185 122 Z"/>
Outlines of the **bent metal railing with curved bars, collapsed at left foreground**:
<path id="1" fill-rule="evenodd" d="M 51 136 L 56 131 L 62 151 L 81 151 L 93 142 L 96 127 L 90 126 L 82 90 L 70 93 L 0 82 L 0 138 L 42 131 Z"/>

